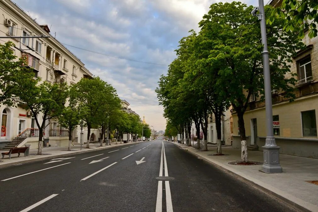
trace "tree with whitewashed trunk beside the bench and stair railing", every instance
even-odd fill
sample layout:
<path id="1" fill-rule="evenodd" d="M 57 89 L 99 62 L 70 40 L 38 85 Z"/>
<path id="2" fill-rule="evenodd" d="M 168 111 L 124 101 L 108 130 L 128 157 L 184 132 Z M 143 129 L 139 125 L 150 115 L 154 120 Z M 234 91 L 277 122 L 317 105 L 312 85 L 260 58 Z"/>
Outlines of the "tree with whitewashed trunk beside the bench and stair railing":
<path id="1" fill-rule="evenodd" d="M 68 86 L 66 83 L 48 82 L 37 85 L 37 82 L 38 80 L 29 79 L 27 83 L 19 85 L 17 96 L 19 104 L 31 110 L 34 116 L 39 130 L 38 155 L 41 155 L 43 131 L 51 119 L 62 114 L 68 96 Z"/>

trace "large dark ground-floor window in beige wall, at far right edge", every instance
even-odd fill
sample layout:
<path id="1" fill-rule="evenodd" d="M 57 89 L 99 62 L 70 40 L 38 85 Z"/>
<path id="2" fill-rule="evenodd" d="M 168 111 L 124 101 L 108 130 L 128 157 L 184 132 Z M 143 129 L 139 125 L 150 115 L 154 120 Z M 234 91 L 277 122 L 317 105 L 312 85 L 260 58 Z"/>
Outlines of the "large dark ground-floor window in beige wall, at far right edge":
<path id="1" fill-rule="evenodd" d="M 301 112 L 301 123 L 302 136 L 317 136 L 315 110 Z"/>

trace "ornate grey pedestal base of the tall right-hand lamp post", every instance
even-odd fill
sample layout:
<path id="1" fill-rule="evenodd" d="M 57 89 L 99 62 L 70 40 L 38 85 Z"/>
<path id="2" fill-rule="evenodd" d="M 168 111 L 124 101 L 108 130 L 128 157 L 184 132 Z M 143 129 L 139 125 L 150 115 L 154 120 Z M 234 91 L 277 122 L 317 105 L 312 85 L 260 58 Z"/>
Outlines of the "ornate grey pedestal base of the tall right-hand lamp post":
<path id="1" fill-rule="evenodd" d="M 278 146 L 263 146 L 264 163 L 260 171 L 265 173 L 281 173 L 283 169 L 279 163 Z"/>

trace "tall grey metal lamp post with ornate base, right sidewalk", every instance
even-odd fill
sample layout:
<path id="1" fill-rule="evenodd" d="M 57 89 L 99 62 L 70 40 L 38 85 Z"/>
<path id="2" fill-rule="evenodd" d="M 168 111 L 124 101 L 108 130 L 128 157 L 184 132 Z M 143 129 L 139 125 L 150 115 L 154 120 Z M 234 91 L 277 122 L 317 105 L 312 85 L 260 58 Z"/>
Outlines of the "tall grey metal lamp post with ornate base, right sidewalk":
<path id="1" fill-rule="evenodd" d="M 259 10 L 259 14 L 256 12 Z M 271 77 L 269 70 L 269 52 L 267 50 L 266 36 L 266 20 L 264 10 L 264 0 L 259 0 L 259 8 L 254 8 L 252 11 L 254 16 L 260 20 L 260 29 L 263 44 L 263 73 L 264 73 L 264 90 L 265 90 L 265 109 L 266 109 L 266 140 L 263 146 L 264 163 L 262 170 L 265 173 L 281 173 L 282 168 L 279 163 L 279 149 L 275 142 L 273 134 L 273 108 L 272 108 L 272 89 Z"/>

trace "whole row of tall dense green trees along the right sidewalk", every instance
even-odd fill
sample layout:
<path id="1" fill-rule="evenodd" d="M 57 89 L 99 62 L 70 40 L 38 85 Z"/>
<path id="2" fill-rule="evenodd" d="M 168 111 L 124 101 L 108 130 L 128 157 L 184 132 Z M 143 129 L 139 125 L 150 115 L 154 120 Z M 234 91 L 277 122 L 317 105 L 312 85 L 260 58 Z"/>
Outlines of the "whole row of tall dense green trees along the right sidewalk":
<path id="1" fill-rule="evenodd" d="M 168 119 L 168 132 L 175 133 L 173 127 L 181 134 L 185 131 L 188 145 L 193 122 L 198 138 L 202 128 L 207 150 L 207 124 L 203 123 L 208 123 L 209 114 L 214 114 L 217 154 L 222 154 L 222 116 L 232 105 L 238 116 L 244 162 L 248 161 L 244 113 L 252 95 L 264 100 L 263 46 L 259 21 L 251 15 L 252 9 L 240 2 L 212 4 L 199 22 L 200 31 L 190 30 L 190 35 L 179 41 L 177 58 L 169 65 L 168 74 L 161 76 L 156 89 Z M 266 6 L 265 10 L 269 16 L 274 8 Z M 282 16 L 271 18 L 267 26 L 271 83 L 272 89 L 280 90 L 292 101 L 296 80 L 285 76 L 295 76 L 289 64 L 304 44 L 297 33 L 283 29 L 284 26 Z"/>

